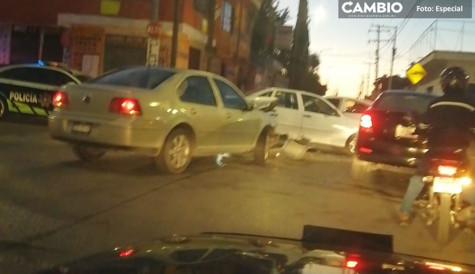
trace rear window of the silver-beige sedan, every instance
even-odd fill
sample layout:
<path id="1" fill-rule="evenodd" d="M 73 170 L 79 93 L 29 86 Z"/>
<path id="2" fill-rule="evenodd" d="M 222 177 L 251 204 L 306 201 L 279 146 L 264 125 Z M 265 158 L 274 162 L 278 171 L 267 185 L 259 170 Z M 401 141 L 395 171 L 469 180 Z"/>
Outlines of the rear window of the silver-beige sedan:
<path id="1" fill-rule="evenodd" d="M 89 80 L 88 83 L 118 85 L 153 89 L 170 78 L 173 71 L 157 68 L 127 68 L 113 70 L 102 76 Z"/>

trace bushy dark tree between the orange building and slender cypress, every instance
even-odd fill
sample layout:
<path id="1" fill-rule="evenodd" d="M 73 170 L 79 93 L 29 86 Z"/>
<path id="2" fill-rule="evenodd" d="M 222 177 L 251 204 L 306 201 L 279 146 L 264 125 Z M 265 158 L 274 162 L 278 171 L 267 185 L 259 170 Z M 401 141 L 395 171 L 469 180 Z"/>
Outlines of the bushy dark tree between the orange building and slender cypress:
<path id="1" fill-rule="evenodd" d="M 289 9 L 278 10 L 278 0 L 263 0 L 251 34 L 251 55 L 263 59 L 274 55 L 275 34 L 289 18 Z"/>

